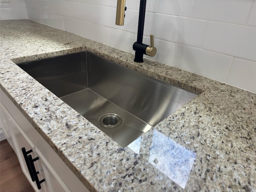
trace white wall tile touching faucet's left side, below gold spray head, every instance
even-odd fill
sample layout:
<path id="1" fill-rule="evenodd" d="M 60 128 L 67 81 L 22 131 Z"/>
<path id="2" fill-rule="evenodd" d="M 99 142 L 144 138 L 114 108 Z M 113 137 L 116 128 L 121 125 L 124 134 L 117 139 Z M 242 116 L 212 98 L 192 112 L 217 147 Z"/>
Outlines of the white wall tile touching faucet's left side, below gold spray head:
<path id="1" fill-rule="evenodd" d="M 105 44 L 124 50 L 134 52 L 132 44 L 134 43 L 134 33 L 126 32 L 114 28 L 105 27 Z"/>

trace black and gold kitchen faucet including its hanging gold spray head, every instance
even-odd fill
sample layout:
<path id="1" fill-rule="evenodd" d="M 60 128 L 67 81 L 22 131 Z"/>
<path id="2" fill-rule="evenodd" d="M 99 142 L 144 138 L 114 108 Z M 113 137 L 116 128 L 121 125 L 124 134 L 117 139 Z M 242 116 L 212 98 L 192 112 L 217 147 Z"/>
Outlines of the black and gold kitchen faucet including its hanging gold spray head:
<path id="1" fill-rule="evenodd" d="M 124 25 L 124 11 L 126 10 L 125 0 L 117 0 L 116 8 L 116 25 Z M 156 48 L 154 47 L 154 35 L 150 34 L 150 46 L 143 44 L 143 31 L 146 13 L 146 0 L 140 0 L 139 22 L 137 41 L 134 42 L 132 48 L 135 51 L 135 62 L 143 62 L 143 55 L 154 57 L 156 55 Z"/>

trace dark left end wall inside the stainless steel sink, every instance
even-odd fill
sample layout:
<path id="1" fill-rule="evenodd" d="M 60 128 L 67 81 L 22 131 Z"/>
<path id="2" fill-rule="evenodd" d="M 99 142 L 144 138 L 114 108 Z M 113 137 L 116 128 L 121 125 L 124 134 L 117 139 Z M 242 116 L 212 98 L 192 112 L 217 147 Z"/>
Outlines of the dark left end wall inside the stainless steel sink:
<path id="1" fill-rule="evenodd" d="M 87 88 L 86 52 L 18 64 L 56 96 Z"/>

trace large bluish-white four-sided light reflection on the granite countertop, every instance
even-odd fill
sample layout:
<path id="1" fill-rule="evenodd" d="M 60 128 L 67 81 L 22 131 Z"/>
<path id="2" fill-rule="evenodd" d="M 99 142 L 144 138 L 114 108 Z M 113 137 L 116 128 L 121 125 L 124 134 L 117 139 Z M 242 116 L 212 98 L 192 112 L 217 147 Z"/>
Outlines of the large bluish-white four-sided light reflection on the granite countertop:
<path id="1" fill-rule="evenodd" d="M 185 188 L 196 154 L 154 130 L 149 162 Z"/>

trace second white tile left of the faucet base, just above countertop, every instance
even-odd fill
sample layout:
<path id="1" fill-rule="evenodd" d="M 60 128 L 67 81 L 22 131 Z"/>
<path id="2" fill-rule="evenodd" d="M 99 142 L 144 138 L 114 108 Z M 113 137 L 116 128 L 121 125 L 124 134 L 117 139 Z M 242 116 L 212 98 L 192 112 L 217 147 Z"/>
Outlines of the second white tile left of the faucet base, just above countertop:
<path id="1" fill-rule="evenodd" d="M 104 44 L 104 26 L 82 22 L 82 36 Z"/>

